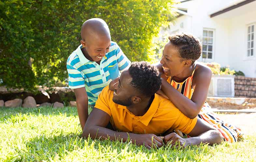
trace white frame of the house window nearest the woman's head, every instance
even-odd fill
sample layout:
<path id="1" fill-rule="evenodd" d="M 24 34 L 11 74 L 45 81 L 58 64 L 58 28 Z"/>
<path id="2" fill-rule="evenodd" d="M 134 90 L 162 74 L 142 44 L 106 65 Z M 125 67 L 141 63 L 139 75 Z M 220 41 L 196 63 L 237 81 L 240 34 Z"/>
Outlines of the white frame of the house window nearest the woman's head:
<path id="1" fill-rule="evenodd" d="M 207 36 L 204 36 L 204 31 L 207 31 Z M 209 31 L 212 31 L 212 37 L 209 37 Z M 209 29 L 209 28 L 203 28 L 203 39 L 202 39 L 202 61 L 204 62 L 212 62 L 214 60 L 214 48 L 215 48 L 215 29 Z M 211 38 L 212 39 L 212 44 L 209 44 L 208 42 L 207 43 L 204 43 L 204 39 L 208 39 Z M 206 45 L 206 51 L 204 50 L 204 45 Z M 209 45 L 212 46 L 212 51 L 209 51 L 208 50 L 208 47 Z M 203 53 L 206 52 L 206 58 L 203 57 Z M 212 58 L 208 58 L 208 52 L 211 52 L 212 53 Z"/>

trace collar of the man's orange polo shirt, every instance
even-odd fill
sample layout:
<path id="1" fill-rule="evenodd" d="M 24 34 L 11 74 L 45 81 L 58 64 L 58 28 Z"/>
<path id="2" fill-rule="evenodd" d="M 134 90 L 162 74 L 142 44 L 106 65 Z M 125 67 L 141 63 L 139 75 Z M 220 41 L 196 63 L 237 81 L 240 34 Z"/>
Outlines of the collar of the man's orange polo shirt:
<path id="1" fill-rule="evenodd" d="M 159 107 L 159 96 L 157 94 L 155 94 L 155 98 L 153 99 L 153 101 L 149 107 L 149 110 L 139 119 L 139 121 L 141 123 L 143 123 L 144 125 L 148 126 L 149 122 L 155 115 L 158 107 Z M 127 109 L 126 106 L 122 106 L 122 105 L 118 105 L 118 108 Z"/>

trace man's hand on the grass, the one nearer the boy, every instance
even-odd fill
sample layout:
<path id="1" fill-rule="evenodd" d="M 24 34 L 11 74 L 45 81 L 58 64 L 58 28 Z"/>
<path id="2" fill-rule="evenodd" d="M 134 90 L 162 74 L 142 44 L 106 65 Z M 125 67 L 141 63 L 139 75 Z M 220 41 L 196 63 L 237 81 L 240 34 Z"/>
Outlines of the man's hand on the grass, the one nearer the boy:
<path id="1" fill-rule="evenodd" d="M 148 149 L 163 146 L 162 138 L 155 134 L 135 134 L 135 136 L 131 138 L 133 138 L 131 140 L 135 141 L 136 145 L 145 145 Z"/>

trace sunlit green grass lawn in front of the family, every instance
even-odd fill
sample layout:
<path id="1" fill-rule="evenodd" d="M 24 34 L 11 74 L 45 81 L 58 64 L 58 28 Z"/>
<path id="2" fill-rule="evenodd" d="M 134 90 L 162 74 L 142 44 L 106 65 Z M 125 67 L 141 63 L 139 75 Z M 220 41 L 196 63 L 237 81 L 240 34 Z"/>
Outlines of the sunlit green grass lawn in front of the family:
<path id="1" fill-rule="evenodd" d="M 256 161 L 255 132 L 233 144 L 148 150 L 81 138 L 77 110 L 71 107 L 0 108 L 0 130 L 0 161 Z"/>

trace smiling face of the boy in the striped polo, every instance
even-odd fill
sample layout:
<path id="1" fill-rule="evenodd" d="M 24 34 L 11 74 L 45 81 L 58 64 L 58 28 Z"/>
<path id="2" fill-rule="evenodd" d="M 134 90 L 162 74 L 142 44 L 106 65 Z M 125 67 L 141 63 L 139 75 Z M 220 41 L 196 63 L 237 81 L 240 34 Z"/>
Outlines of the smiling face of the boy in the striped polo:
<path id="1" fill-rule="evenodd" d="M 87 59 L 98 62 L 106 55 L 107 52 L 109 52 L 109 47 L 111 45 L 110 35 L 88 37 L 86 38 L 85 46 L 83 45 L 89 57 L 91 57 Z"/>

